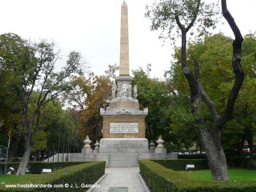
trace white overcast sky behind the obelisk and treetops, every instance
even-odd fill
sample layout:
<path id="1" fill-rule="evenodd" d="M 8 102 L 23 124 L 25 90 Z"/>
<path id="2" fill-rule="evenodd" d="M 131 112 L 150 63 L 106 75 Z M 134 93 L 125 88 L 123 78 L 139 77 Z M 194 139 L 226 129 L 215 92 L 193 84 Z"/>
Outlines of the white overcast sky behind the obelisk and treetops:
<path id="1" fill-rule="evenodd" d="M 210 0 L 208 0 L 210 1 Z M 102 74 L 108 65 L 119 65 L 120 14 L 123 0 L 2 0 L 0 34 L 16 33 L 23 38 L 47 38 L 57 42 L 65 65 L 70 51 L 82 53 L 88 65 Z M 163 77 L 170 66 L 173 47 L 163 45 L 158 32 L 150 31 L 145 5 L 153 0 L 126 0 L 129 12 L 130 70 L 144 70 L 152 63 L 151 77 Z M 227 7 L 242 35 L 256 31 L 256 0 L 227 0 Z M 216 29 L 233 37 L 227 23 Z M 180 45 L 180 42 L 177 42 Z M 130 75 L 132 73 L 130 72 Z"/>

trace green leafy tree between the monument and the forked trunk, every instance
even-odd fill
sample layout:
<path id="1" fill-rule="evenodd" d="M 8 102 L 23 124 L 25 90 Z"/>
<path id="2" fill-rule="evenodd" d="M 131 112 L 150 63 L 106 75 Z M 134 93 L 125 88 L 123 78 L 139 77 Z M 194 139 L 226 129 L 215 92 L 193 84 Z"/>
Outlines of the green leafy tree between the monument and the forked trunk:
<path id="1" fill-rule="evenodd" d="M 171 101 L 172 88 L 158 79 L 148 78 L 140 68 L 133 71 L 133 84 L 137 85 L 140 109 L 148 107 L 146 117 L 146 137 L 148 140 L 157 140 L 162 135 L 165 141 L 173 140 L 170 134 L 170 120 L 166 116 Z"/>

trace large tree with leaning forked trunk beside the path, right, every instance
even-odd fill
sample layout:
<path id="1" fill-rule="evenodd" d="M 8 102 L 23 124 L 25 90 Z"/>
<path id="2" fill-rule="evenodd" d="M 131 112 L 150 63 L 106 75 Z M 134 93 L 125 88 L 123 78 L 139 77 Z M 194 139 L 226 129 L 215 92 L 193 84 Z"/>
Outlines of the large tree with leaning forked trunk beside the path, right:
<path id="1" fill-rule="evenodd" d="M 190 89 L 191 111 L 195 118 L 194 125 L 197 137 L 206 151 L 208 165 L 213 179 L 229 180 L 225 153 L 221 145 L 221 132 L 224 124 L 231 117 L 234 103 L 238 97 L 245 76 L 241 67 L 241 46 L 243 37 L 227 9 L 226 0 L 222 0 L 222 13 L 236 37 L 232 44 L 232 68 L 235 74 L 235 80 L 229 93 L 225 110 L 222 114 L 219 114 L 215 103 L 208 97 L 201 85 L 199 61 L 197 58 L 194 58 L 195 66 L 193 73 L 187 66 L 186 60 L 187 32 L 196 22 L 203 24 L 205 27 L 213 26 L 214 24 L 214 20 L 212 20 L 212 16 L 215 15 L 214 9 L 209 9 L 210 6 L 203 7 L 205 5 L 206 4 L 200 0 L 161 1 L 161 3 L 155 4 L 155 7 L 149 10 L 147 15 L 152 18 L 152 29 L 167 28 L 168 33 L 170 33 L 175 26 L 181 32 L 181 67 Z M 209 131 L 205 125 L 201 109 L 201 99 L 206 103 L 211 113 L 211 131 Z"/>

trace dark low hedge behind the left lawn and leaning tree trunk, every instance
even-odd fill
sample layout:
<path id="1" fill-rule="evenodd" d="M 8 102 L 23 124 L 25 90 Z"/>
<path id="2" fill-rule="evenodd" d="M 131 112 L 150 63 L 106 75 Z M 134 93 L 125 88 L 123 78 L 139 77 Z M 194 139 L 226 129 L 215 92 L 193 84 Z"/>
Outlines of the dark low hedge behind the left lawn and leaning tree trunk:
<path id="1" fill-rule="evenodd" d="M 86 163 L 84 161 L 74 161 L 74 162 L 29 162 L 28 164 L 28 169 L 29 172 L 32 174 L 40 174 L 42 173 L 43 168 L 51 168 L 53 170 L 57 170 L 60 168 L 65 168 L 67 166 L 72 166 L 72 165 L 78 165 L 81 163 Z M 18 169 L 19 162 L 15 163 L 7 163 L 7 169 L 9 167 L 13 167 L 15 170 Z M 0 164 L 0 174 L 5 172 L 5 164 L 1 163 Z"/>

